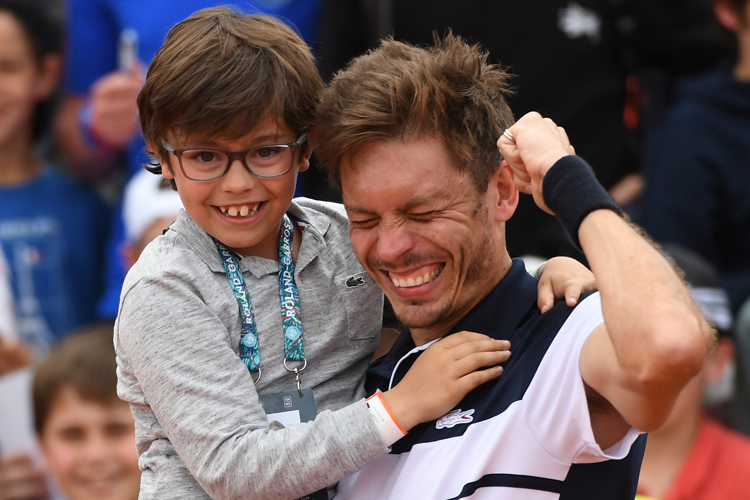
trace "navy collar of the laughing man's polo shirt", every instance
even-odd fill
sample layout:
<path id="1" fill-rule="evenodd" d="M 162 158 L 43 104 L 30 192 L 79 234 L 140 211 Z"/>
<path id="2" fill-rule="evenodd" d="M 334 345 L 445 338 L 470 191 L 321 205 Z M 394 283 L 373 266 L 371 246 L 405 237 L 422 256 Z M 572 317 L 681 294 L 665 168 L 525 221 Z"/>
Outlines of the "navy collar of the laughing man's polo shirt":
<path id="1" fill-rule="evenodd" d="M 505 277 L 449 331 L 475 331 L 507 339 L 536 304 L 537 281 L 526 272 L 523 259 L 513 259 Z M 416 347 L 409 328 L 404 328 L 391 350 L 370 365 L 373 376 L 390 379 L 398 361 Z"/>

